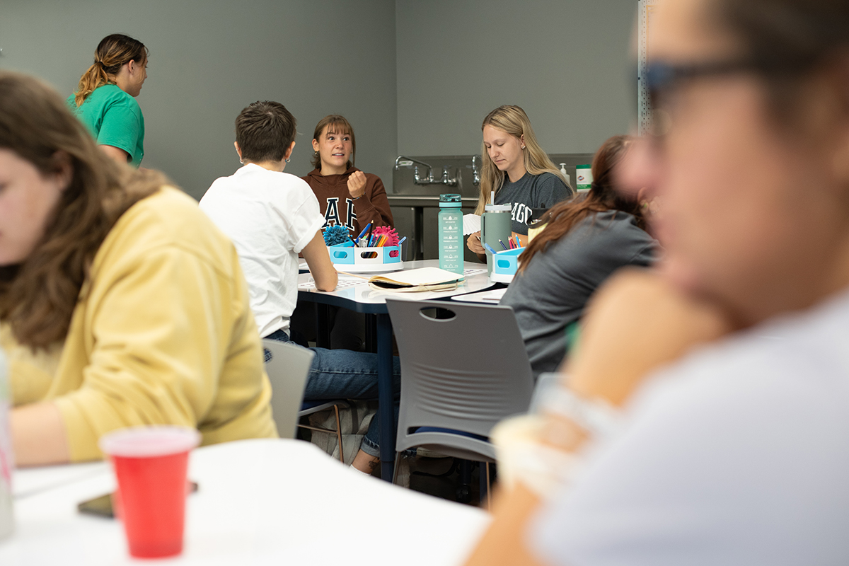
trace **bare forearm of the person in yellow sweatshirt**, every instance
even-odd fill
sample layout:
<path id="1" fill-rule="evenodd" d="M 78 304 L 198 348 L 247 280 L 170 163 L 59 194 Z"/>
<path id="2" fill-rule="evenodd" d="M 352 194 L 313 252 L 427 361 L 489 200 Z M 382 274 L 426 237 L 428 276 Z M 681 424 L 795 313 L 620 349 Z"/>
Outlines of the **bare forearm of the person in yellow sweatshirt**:
<path id="1" fill-rule="evenodd" d="M 18 466 L 43 466 L 70 460 L 65 423 L 53 403 L 12 410 L 12 448 Z"/>

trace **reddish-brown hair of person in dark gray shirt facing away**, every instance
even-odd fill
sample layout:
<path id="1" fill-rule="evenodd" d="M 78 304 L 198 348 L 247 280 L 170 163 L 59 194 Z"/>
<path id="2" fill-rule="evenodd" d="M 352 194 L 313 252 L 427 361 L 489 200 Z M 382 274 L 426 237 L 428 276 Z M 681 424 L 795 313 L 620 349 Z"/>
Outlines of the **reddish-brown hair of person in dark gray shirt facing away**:
<path id="1" fill-rule="evenodd" d="M 614 136 L 604 142 L 593 156 L 593 184 L 589 192 L 565 200 L 548 210 L 548 224 L 531 240 L 519 256 L 519 270 L 525 271 L 534 255 L 544 251 L 549 244 L 563 238 L 575 225 L 590 215 L 608 210 L 621 210 L 637 219 L 637 226 L 646 229 L 643 207 L 631 195 L 616 190 L 614 170 L 625 156 L 631 136 Z"/>

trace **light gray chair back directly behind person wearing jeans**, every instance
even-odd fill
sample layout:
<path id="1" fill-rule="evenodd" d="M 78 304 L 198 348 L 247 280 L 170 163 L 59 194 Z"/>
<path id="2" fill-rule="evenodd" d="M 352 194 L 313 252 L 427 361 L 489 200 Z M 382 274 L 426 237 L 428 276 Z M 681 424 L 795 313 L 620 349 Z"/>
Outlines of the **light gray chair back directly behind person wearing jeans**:
<path id="1" fill-rule="evenodd" d="M 262 347 L 271 353 L 266 373 L 271 381 L 271 408 L 280 438 L 295 438 L 298 412 L 304 400 L 306 378 L 312 365 L 312 350 L 279 340 L 263 339 Z"/>

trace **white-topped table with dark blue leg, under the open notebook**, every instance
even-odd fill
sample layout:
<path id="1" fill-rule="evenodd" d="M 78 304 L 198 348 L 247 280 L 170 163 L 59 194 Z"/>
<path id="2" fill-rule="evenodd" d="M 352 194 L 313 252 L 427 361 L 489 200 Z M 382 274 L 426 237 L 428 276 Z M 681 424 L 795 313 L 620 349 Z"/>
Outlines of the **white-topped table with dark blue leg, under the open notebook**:
<path id="1" fill-rule="evenodd" d="M 418 267 L 438 267 L 439 260 L 405 261 L 404 269 Z M 393 462 L 395 461 L 395 421 L 392 417 L 392 325 L 386 311 L 386 297 L 404 300 L 447 299 L 453 295 L 474 293 L 489 289 L 494 283 L 486 277 L 486 265 L 466 261 L 464 270 L 477 272 L 465 277 L 457 289 L 447 291 L 424 291 L 421 293 L 393 293 L 372 289 L 363 280 L 351 287 L 335 291 L 319 291 L 313 285 L 306 286 L 312 280 L 309 273 L 298 275 L 298 302 L 316 303 L 324 310 L 318 310 L 318 347 L 329 348 L 326 305 L 341 306 L 351 311 L 374 314 L 377 317 L 377 357 L 378 357 L 378 418 L 380 418 L 380 477 L 391 481 Z M 364 274 L 370 277 L 374 273 Z"/>

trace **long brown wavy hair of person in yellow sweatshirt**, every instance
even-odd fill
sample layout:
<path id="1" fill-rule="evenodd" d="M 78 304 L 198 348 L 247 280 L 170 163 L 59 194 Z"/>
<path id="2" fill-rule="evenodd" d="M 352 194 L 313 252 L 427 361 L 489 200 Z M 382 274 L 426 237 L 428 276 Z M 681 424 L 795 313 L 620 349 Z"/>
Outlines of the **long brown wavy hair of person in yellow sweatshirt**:
<path id="1" fill-rule="evenodd" d="M 70 165 L 68 187 L 36 248 L 20 264 L 0 266 L 0 320 L 20 344 L 46 349 L 65 339 L 94 255 L 115 221 L 166 179 L 110 160 L 51 87 L 6 71 L 0 71 L 0 149 L 44 176 Z"/>

